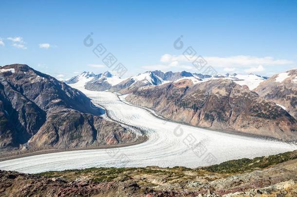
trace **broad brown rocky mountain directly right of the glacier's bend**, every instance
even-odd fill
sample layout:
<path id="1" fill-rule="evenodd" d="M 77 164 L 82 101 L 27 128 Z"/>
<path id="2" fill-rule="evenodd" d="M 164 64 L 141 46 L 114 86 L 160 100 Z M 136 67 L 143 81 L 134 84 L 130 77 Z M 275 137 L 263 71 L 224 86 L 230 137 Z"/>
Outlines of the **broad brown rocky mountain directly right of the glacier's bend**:
<path id="1" fill-rule="evenodd" d="M 232 80 L 189 80 L 142 87 L 126 99 L 167 119 L 220 130 L 297 140 L 297 121 L 276 103 Z"/>

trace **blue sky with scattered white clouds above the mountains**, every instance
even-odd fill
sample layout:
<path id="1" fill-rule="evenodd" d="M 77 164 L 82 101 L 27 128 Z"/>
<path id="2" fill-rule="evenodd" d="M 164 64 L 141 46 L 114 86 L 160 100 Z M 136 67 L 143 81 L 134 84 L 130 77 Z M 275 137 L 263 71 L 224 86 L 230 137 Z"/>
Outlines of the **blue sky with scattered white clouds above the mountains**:
<path id="1" fill-rule="evenodd" d="M 199 72 L 183 57 L 189 46 L 219 73 L 297 68 L 297 0 L 2 0 L 0 24 L 0 65 L 24 63 L 58 78 L 112 70 L 92 52 L 99 43 L 127 68 L 124 77 Z"/>

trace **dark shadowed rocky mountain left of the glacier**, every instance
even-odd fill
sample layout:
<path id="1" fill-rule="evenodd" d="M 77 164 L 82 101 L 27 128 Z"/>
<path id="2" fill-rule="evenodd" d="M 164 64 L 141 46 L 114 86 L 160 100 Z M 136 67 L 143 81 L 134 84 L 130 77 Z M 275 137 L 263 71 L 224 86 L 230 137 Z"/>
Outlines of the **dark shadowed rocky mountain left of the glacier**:
<path id="1" fill-rule="evenodd" d="M 125 143 L 134 135 L 103 120 L 81 91 L 27 65 L 0 67 L 0 149 Z"/>

